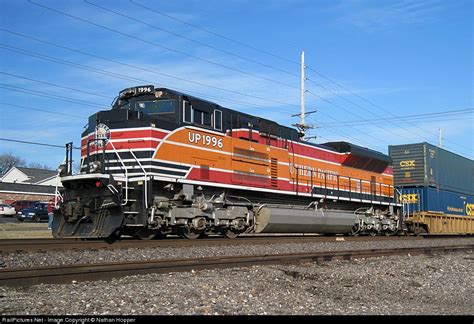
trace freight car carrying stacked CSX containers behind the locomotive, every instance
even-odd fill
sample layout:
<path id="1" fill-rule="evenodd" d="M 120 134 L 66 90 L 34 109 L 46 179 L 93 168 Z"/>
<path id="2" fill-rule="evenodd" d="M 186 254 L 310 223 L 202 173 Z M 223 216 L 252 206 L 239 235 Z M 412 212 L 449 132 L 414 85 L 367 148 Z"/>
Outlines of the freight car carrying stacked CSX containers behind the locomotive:
<path id="1" fill-rule="evenodd" d="M 392 145 L 389 154 L 411 232 L 474 234 L 474 161 L 426 142 Z"/>

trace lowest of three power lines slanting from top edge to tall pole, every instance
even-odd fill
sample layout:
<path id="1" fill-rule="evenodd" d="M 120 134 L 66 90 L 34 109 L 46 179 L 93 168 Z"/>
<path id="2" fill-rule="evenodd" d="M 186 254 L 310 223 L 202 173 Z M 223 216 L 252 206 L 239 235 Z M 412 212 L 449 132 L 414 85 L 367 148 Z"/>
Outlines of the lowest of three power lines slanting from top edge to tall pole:
<path id="1" fill-rule="evenodd" d="M 148 41 L 148 40 L 143 39 L 143 38 L 139 38 L 139 37 L 136 37 L 136 36 L 127 34 L 127 33 L 123 33 L 123 32 L 118 31 L 118 30 L 116 30 L 116 29 L 113 29 L 113 28 L 110 28 L 110 27 L 107 27 L 107 26 L 104 26 L 104 25 L 100 25 L 100 24 L 94 23 L 94 22 L 92 22 L 92 21 L 89 21 L 89 20 L 86 20 L 86 19 L 83 19 L 83 18 L 74 16 L 74 15 L 65 13 L 65 12 L 63 12 L 63 11 L 60 11 L 60 10 L 57 10 L 57 9 L 53 9 L 53 8 L 51 8 L 51 7 L 48 7 L 48 6 L 45 6 L 45 5 L 36 3 L 36 2 L 34 2 L 34 1 L 32 1 L 32 0 L 28 0 L 28 2 L 31 3 L 31 4 L 34 4 L 34 5 L 36 5 L 36 6 L 43 7 L 43 8 L 45 8 L 45 9 L 50 10 L 50 11 L 56 12 L 56 13 L 58 13 L 58 14 L 61 14 L 61 15 L 63 15 L 63 16 L 70 17 L 70 18 L 73 18 L 73 19 L 76 19 L 76 20 L 79 20 L 79 21 L 88 23 L 88 24 L 91 24 L 91 25 L 93 25 L 93 26 L 100 27 L 100 28 L 103 28 L 103 29 L 105 29 L 105 30 L 111 31 L 111 32 L 113 32 L 113 33 L 116 33 L 116 34 L 119 34 L 119 35 L 122 35 L 122 36 L 126 36 L 126 37 L 129 37 L 129 38 L 135 39 L 135 40 L 139 40 L 139 41 L 141 41 L 141 42 L 144 42 L 144 43 L 147 43 L 147 44 L 150 44 L 150 45 L 153 45 L 153 46 L 157 46 L 157 47 L 166 49 L 166 50 L 171 51 L 171 52 L 174 52 L 174 53 L 178 53 L 178 54 L 181 54 L 181 55 L 184 55 L 184 56 L 187 56 L 187 57 L 191 57 L 191 58 L 196 59 L 196 60 L 199 60 L 199 61 L 201 61 L 201 62 L 206 62 L 206 63 L 212 64 L 212 65 L 215 65 L 215 66 L 219 66 L 219 67 L 222 67 L 222 68 L 226 68 L 226 69 L 229 69 L 229 70 L 232 70 L 232 71 L 235 71 L 235 72 L 239 72 L 239 73 L 242 73 L 242 74 L 246 74 L 246 75 L 249 75 L 249 76 L 252 76 L 252 77 L 255 77 L 255 78 L 259 78 L 259 79 L 262 79 L 262 80 L 266 80 L 266 81 L 269 81 L 269 82 L 273 82 L 273 83 L 276 83 L 276 84 L 279 84 L 279 85 L 282 85 L 282 86 L 285 86 L 285 87 L 289 87 L 289 88 L 293 88 L 293 89 L 299 89 L 299 87 L 296 87 L 296 86 L 292 86 L 292 85 L 289 85 L 289 84 L 286 84 L 286 83 L 283 83 L 283 82 L 280 82 L 280 81 L 277 81 L 277 80 L 273 80 L 273 79 L 270 79 L 270 78 L 267 78 L 267 77 L 263 77 L 263 76 L 254 74 L 254 73 L 242 71 L 242 70 L 239 70 L 239 69 L 237 69 L 237 68 L 233 68 L 233 67 L 228 66 L 228 65 L 220 64 L 220 63 L 217 63 L 217 62 L 208 60 L 208 59 L 201 58 L 201 57 L 196 56 L 196 55 L 193 55 L 193 54 L 185 53 L 185 52 L 179 51 L 179 50 L 174 49 L 174 48 L 171 48 L 171 47 L 163 46 L 163 45 L 160 45 L 160 44 L 158 44 L 158 43 Z"/>

